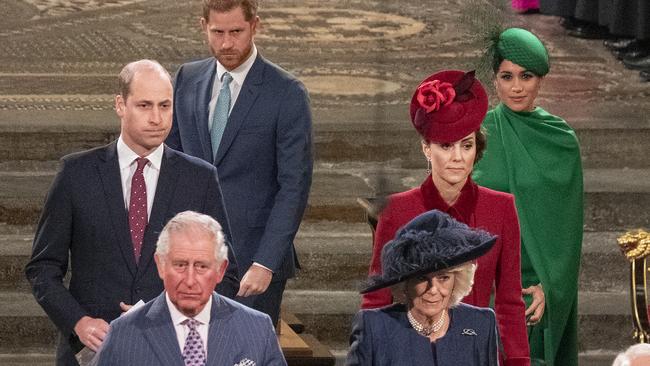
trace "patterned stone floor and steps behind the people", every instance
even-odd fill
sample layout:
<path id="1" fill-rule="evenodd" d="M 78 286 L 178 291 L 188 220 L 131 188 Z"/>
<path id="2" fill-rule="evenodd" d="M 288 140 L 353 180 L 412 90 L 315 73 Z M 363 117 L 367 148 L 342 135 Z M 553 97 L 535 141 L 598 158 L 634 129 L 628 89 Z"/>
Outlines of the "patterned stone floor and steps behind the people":
<path id="1" fill-rule="evenodd" d="M 565 36 L 557 18 L 487 11 L 488 0 L 261 3 L 258 49 L 305 83 L 315 123 L 318 168 L 297 244 L 306 268 L 289 285 L 287 306 L 339 358 L 370 245 L 354 199 L 418 184 L 424 164 L 407 114 L 413 88 L 441 68 L 475 68 L 481 52 L 472 35 L 482 27 L 476 19 L 494 15 L 545 41 L 552 68 L 538 101 L 564 117 L 582 143 L 591 221 L 581 277 L 581 364 L 609 364 L 631 343 L 625 263 L 614 238 L 650 227 L 650 83 L 624 69 L 601 41 Z M 198 0 L 3 0 L 2 9 L 0 340 L 17 315 L 42 319 L 24 280 L 14 277 L 29 253 L 54 161 L 118 132 L 112 94 L 122 65 L 152 58 L 174 72 L 207 56 Z M 16 298 L 25 303 L 17 306 Z M 0 363 L 50 363 L 51 348 L 30 348 L 33 332 L 15 352 L 0 344 Z"/>

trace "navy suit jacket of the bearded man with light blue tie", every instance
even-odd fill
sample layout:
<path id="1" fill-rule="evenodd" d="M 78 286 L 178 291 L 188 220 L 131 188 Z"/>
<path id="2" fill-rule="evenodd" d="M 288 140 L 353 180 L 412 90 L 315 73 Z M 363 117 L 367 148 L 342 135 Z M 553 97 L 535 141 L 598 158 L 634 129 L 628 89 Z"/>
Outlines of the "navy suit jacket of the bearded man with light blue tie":
<path id="1" fill-rule="evenodd" d="M 307 92 L 300 81 L 258 55 L 214 159 L 208 103 L 215 74 L 213 57 L 180 67 L 167 144 L 217 167 L 240 275 L 258 262 L 273 270 L 275 279 L 286 279 L 297 265 L 293 239 L 311 185 Z"/>

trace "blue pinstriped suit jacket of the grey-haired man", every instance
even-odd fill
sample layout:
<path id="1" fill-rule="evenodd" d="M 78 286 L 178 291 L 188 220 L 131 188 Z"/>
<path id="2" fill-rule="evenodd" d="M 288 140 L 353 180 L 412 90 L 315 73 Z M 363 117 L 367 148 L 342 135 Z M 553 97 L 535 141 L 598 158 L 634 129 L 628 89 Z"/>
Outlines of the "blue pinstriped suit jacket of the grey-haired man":
<path id="1" fill-rule="evenodd" d="M 287 364 L 268 315 L 216 293 L 212 301 L 206 365 Z M 100 366 L 184 364 L 165 293 L 111 324 L 98 361 Z"/>

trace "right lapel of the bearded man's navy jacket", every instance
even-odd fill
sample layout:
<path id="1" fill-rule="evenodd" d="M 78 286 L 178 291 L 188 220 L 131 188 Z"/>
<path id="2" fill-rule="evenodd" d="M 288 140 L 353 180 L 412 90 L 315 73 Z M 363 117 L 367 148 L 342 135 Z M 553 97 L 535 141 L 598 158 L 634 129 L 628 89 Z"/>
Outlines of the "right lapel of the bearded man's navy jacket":
<path id="1" fill-rule="evenodd" d="M 214 165 L 218 165 L 221 162 L 221 159 L 226 155 L 226 151 L 230 148 L 237 132 L 244 124 L 248 111 L 251 109 L 257 96 L 260 93 L 260 85 L 263 82 L 264 77 L 264 67 L 266 66 L 266 61 L 260 56 L 257 55 L 253 66 L 248 71 L 246 79 L 244 80 L 244 85 L 242 85 L 239 96 L 237 97 L 237 102 L 230 112 L 228 117 L 228 124 L 226 129 L 223 131 L 223 137 L 221 138 L 221 144 L 219 145 L 219 150 L 217 151 L 217 156 L 214 159 Z"/>

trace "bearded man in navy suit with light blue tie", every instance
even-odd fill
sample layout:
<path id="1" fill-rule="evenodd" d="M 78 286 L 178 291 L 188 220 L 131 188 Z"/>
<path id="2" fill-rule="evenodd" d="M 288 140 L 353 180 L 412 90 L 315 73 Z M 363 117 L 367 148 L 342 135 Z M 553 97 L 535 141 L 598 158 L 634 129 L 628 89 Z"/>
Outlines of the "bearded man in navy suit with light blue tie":
<path id="1" fill-rule="evenodd" d="M 180 67 L 167 144 L 213 163 L 240 266 L 237 300 L 277 322 L 313 166 L 307 92 L 255 48 L 255 0 L 204 0 L 214 57 Z"/>

